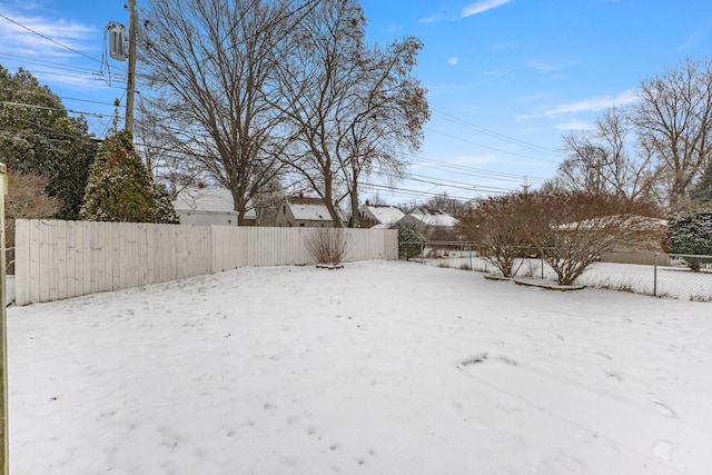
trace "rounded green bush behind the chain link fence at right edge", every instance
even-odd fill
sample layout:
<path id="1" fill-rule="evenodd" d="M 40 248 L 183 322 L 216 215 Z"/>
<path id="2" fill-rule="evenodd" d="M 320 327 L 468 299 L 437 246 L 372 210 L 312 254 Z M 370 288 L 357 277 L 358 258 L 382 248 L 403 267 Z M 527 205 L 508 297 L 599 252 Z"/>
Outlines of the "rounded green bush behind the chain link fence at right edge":
<path id="1" fill-rule="evenodd" d="M 672 254 L 691 256 L 712 255 L 712 208 L 680 212 L 670 220 L 665 250 Z M 689 257 L 685 264 L 698 271 L 700 266 L 711 259 Z"/>

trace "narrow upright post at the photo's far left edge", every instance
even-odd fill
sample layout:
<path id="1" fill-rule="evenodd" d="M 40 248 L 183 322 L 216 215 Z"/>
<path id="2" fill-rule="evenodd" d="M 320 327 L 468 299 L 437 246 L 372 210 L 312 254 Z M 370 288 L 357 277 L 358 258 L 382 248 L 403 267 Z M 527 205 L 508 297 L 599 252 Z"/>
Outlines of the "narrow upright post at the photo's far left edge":
<path id="1" fill-rule="evenodd" d="M 7 314 L 7 291 L 6 258 L 4 258 L 4 195 L 8 192 L 8 169 L 4 164 L 0 164 L 0 410 L 2 420 L 0 422 L 0 474 L 8 475 L 10 472 L 10 444 L 8 441 L 8 314 Z"/>

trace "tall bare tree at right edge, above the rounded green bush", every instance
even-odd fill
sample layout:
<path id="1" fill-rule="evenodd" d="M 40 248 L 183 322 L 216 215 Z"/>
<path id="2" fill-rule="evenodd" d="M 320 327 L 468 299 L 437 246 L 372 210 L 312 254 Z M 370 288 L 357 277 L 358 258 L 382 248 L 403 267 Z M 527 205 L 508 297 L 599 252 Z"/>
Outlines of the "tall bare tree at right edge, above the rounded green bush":
<path id="1" fill-rule="evenodd" d="M 642 146 L 669 179 L 668 204 L 685 207 L 693 180 L 712 159 L 712 59 L 688 58 L 644 79 L 634 122 Z"/>

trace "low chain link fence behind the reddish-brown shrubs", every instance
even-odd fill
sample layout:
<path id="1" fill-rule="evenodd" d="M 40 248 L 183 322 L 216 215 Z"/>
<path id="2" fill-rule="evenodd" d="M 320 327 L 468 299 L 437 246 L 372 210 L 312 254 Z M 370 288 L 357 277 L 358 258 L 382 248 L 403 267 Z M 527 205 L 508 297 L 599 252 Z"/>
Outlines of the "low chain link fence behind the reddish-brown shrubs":
<path id="1" fill-rule="evenodd" d="M 520 258 L 517 278 L 556 281 L 556 275 L 542 257 Z M 525 255 L 526 255 L 525 254 Z M 421 244 L 422 264 L 476 270 L 493 276 L 502 273 L 479 256 L 475 243 L 428 241 Z M 712 256 L 656 253 L 604 253 L 586 268 L 576 284 L 655 297 L 712 301 Z"/>

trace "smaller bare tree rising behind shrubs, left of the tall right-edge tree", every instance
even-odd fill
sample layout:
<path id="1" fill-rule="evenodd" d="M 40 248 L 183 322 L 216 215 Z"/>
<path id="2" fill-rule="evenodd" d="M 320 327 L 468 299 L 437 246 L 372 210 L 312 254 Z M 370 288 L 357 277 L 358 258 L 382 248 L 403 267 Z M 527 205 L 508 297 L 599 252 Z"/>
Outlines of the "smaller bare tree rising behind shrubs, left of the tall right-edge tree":
<path id="1" fill-rule="evenodd" d="M 567 157 L 558 166 L 555 182 L 568 190 L 631 199 L 647 196 L 654 175 L 651 156 L 644 148 L 632 150 L 630 135 L 627 116 L 617 108 L 597 117 L 592 130 L 565 135 Z"/>

